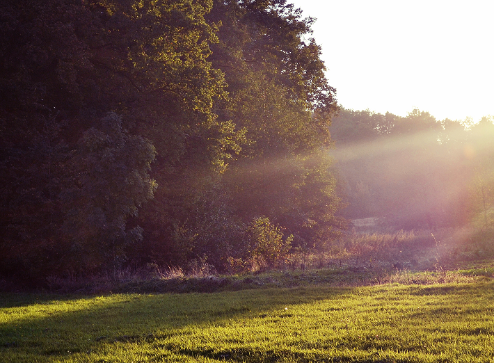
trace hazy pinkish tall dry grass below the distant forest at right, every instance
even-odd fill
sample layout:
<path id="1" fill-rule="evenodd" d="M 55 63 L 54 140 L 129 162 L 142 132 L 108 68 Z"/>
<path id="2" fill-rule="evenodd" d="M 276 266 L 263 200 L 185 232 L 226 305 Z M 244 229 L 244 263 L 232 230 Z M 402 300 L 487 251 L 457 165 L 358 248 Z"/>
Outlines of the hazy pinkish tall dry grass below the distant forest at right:
<path id="1" fill-rule="evenodd" d="M 289 266 L 334 268 L 395 268 L 411 271 L 454 269 L 494 257 L 494 232 L 468 227 L 344 234 L 326 250 L 307 250 L 290 256 Z"/>

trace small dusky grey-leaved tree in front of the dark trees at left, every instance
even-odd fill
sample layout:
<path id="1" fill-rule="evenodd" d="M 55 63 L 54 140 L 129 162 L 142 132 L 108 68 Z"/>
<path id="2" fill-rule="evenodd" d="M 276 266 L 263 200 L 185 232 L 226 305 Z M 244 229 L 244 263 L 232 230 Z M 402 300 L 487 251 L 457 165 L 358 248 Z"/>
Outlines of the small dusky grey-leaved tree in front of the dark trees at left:
<path id="1" fill-rule="evenodd" d="M 72 258 L 79 256 L 75 270 L 121 266 L 125 246 L 142 240 L 142 228 L 126 230 L 126 220 L 153 196 L 156 183 L 148 172 L 154 155 L 150 140 L 127 135 L 115 113 L 102 119 L 101 129 L 84 132 L 70 160 L 77 179 L 61 193 L 67 216 L 61 232 L 71 241 Z"/>

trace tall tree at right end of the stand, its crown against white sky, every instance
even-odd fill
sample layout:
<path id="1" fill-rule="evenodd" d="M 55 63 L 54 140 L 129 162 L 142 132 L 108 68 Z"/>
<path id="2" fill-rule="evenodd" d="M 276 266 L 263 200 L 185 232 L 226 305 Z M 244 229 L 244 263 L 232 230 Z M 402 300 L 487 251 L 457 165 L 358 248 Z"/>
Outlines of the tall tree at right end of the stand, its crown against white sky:
<path id="1" fill-rule="evenodd" d="M 311 243 L 337 225 L 339 204 L 321 153 L 330 145 L 335 90 L 310 38 L 314 19 L 303 19 L 285 0 L 214 1 L 207 18 L 222 24 L 211 59 L 225 72 L 230 99 L 219 118 L 246 131 L 241 154 L 225 172 L 234 213 L 246 223 L 268 216 L 300 236 L 299 243 Z M 313 198 L 304 203 L 308 191 Z M 315 210 L 324 223 L 311 219 Z"/>

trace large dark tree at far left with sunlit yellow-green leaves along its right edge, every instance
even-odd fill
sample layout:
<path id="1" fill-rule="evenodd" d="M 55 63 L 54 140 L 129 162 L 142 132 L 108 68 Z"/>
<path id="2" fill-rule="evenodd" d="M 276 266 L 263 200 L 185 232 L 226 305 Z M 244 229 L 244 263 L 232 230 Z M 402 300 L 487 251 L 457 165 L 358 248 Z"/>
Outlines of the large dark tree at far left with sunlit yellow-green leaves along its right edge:
<path id="1" fill-rule="evenodd" d="M 1 4 L 3 273 L 114 266 L 141 239 L 136 214 L 153 179 L 168 207 L 192 185 L 175 188 L 176 175 L 224 170 L 237 145 L 232 124 L 212 112 L 225 83 L 207 61 L 211 5 Z M 169 210 L 156 219 L 173 223 Z M 88 255 L 74 264 L 77 251 Z"/>

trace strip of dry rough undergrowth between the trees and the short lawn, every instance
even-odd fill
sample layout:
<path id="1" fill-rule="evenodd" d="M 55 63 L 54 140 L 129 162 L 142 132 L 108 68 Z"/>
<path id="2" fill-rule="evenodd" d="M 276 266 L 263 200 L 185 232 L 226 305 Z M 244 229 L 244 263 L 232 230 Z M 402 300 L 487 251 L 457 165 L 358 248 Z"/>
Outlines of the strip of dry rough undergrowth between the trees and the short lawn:
<path id="1" fill-rule="evenodd" d="M 434 232 L 346 234 L 324 250 L 293 249 L 277 268 L 260 268 L 231 261 L 236 268 L 218 274 L 207 257 L 188 269 L 148 264 L 120 268 L 99 275 L 51 276 L 44 290 L 57 293 L 214 292 L 297 287 L 308 284 L 358 286 L 434 284 L 478 280 L 477 273 L 492 270 L 493 234 L 470 229 Z M 240 267 L 239 267 L 240 266 Z M 491 276 L 484 273 L 482 276 Z M 0 291 L 20 291 L 0 280 Z"/>

